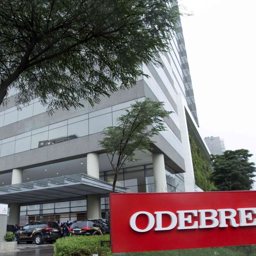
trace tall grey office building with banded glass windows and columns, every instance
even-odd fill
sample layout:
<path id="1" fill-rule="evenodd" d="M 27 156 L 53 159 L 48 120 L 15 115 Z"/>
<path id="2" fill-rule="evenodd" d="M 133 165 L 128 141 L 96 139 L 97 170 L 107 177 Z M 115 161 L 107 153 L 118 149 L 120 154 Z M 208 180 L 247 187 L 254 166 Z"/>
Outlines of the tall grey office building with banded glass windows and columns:
<path id="1" fill-rule="evenodd" d="M 172 48 L 160 54 L 163 67 L 143 65 L 143 76 L 129 90 L 101 97 L 94 107 L 57 110 L 49 116 L 38 99 L 17 111 L 17 91 L 9 92 L 0 106 L 0 203 L 9 204 L 10 224 L 29 221 L 74 221 L 106 218 L 114 173 L 99 147 L 105 127 L 136 101 L 146 97 L 165 102 L 173 111 L 165 118 L 166 131 L 153 140 L 153 149 L 137 152 L 139 161 L 120 171 L 117 192 L 189 192 L 195 184 L 188 133 L 206 157 L 208 148 L 197 131 L 198 119 L 180 21 L 169 41 Z"/>

